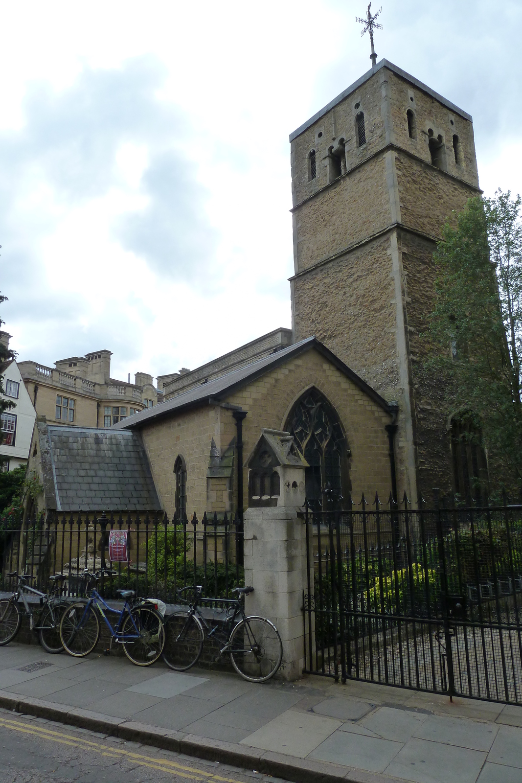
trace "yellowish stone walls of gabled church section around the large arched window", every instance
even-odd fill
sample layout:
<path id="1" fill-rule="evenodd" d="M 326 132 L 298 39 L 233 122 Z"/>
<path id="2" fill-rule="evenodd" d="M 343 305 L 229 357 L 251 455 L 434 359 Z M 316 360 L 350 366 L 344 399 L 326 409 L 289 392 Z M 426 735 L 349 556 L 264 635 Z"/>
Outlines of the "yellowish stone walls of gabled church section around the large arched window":
<path id="1" fill-rule="evenodd" d="M 243 421 L 243 457 L 257 442 L 262 428 L 283 429 L 294 402 L 311 386 L 322 391 L 337 410 L 351 449 L 350 478 L 352 493 L 360 497 L 387 497 L 391 490 L 391 468 L 387 433 L 389 414 L 370 399 L 352 381 L 326 359 L 310 349 L 283 366 L 271 370 L 256 381 L 231 393 L 225 405 L 240 406 L 248 412 Z M 174 414 L 171 418 L 148 424 L 142 430 L 154 481 L 164 509 L 171 517 L 175 511 L 174 464 L 178 454 L 187 468 L 187 514 L 196 511 L 225 511 L 226 488 L 221 497 L 207 495 L 207 467 L 211 441 L 219 451 L 229 446 L 236 435 L 232 410 L 220 406 L 202 406 L 196 410 Z M 232 512 L 237 507 L 237 463 L 232 471 Z M 247 507 L 247 470 L 243 470 L 243 495 Z M 211 491 L 214 489 L 211 487 Z"/>

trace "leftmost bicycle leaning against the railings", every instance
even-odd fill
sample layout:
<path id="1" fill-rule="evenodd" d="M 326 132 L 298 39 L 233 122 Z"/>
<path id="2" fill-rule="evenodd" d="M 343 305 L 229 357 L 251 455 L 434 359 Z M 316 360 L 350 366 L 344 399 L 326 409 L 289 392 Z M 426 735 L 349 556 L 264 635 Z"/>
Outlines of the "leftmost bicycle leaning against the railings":
<path id="1" fill-rule="evenodd" d="M 9 644 L 20 630 L 22 616 L 29 618 L 29 627 L 31 630 L 38 631 L 40 644 L 47 652 L 61 652 L 63 644 L 59 637 L 59 623 L 62 619 L 63 611 L 67 607 L 67 601 L 63 600 L 63 580 L 67 577 L 62 574 L 55 574 L 49 579 L 54 583 L 54 588 L 50 593 L 42 593 L 35 587 L 27 584 L 34 577 L 29 574 L 18 574 L 16 571 L 7 576 L 16 576 L 18 584 L 13 595 L 0 601 L 0 647 Z M 30 608 L 27 602 L 26 593 L 38 596 L 40 605 L 38 608 Z M 20 600 L 23 604 L 23 610 L 20 609 Z"/>

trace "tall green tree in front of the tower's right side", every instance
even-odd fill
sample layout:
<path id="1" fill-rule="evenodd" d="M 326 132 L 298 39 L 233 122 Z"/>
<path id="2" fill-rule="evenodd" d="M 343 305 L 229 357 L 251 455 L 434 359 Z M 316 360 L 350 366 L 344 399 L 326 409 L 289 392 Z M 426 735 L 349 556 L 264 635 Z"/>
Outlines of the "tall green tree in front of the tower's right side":
<path id="1" fill-rule="evenodd" d="M 498 460 L 507 468 L 490 476 L 496 485 L 509 485 L 509 474 L 522 478 L 521 238 L 520 197 L 497 191 L 493 199 L 470 199 L 434 254 L 437 358 L 428 364 L 446 384 L 448 413 L 466 416 L 497 470 Z"/>

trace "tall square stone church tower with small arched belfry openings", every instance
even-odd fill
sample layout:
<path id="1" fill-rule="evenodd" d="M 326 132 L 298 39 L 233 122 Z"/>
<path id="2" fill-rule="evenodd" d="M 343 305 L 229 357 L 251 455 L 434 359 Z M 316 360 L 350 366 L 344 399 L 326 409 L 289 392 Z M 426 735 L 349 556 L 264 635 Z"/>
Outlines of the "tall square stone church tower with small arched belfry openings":
<path id="1" fill-rule="evenodd" d="M 455 485 L 444 389 L 421 368 L 424 319 L 445 219 L 481 193 L 472 118 L 381 60 L 290 143 L 293 341 L 315 334 L 398 402 L 398 496 L 432 500 Z"/>

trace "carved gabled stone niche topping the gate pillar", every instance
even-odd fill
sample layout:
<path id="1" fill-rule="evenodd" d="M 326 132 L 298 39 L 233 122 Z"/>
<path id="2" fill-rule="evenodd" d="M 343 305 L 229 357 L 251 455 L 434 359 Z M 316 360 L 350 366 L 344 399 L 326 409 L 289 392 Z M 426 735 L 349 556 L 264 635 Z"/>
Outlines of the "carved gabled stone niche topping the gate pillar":
<path id="1" fill-rule="evenodd" d="M 304 506 L 308 462 L 290 432 L 261 430 L 245 467 L 249 507 Z"/>

